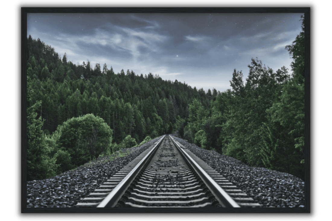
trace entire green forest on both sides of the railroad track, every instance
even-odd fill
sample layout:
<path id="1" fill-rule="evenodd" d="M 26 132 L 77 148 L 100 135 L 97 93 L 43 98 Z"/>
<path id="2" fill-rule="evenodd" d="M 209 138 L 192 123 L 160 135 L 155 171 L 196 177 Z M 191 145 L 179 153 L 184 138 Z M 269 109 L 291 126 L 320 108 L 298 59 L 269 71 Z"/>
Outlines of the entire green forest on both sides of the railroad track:
<path id="1" fill-rule="evenodd" d="M 304 17 L 286 46 L 292 73 L 258 58 L 232 90 L 204 91 L 158 75 L 115 74 L 61 58 L 27 38 L 27 180 L 46 179 L 163 134 L 304 180 Z"/>

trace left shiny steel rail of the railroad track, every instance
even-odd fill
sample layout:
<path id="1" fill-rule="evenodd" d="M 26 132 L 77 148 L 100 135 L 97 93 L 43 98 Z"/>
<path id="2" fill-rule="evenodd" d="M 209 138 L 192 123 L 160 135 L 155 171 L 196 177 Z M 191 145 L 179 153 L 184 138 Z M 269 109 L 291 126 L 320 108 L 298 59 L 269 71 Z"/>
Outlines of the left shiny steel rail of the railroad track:
<path id="1" fill-rule="evenodd" d="M 115 207 L 117 202 L 121 199 L 124 191 L 130 186 L 135 177 L 139 174 L 146 162 L 154 155 L 157 147 L 164 140 L 164 135 L 158 143 L 150 150 L 148 154 L 130 171 L 130 173 L 104 198 L 104 200 L 97 207 Z"/>

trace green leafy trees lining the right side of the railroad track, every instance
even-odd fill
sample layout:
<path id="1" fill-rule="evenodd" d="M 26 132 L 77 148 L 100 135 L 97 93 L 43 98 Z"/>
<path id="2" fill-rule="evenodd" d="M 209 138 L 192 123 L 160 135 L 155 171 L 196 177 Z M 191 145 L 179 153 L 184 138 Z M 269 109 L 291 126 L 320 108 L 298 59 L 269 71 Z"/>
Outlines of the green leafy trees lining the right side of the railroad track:
<path id="1" fill-rule="evenodd" d="M 304 180 L 304 17 L 302 32 L 286 46 L 292 75 L 252 59 L 246 83 L 234 69 L 227 90 L 189 105 L 184 138 L 254 167 L 287 172 Z"/>

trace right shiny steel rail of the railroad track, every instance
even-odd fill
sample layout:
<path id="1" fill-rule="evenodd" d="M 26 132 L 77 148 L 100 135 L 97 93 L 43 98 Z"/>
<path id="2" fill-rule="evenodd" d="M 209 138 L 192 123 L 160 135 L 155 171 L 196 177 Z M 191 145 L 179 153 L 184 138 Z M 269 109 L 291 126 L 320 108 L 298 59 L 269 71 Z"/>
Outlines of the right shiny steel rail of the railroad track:
<path id="1" fill-rule="evenodd" d="M 183 158 L 193 167 L 196 173 L 203 180 L 207 188 L 214 195 L 219 204 L 223 207 L 240 207 L 196 162 L 188 153 L 186 153 L 178 144 L 174 138 L 169 135 L 175 146 L 178 148 Z"/>

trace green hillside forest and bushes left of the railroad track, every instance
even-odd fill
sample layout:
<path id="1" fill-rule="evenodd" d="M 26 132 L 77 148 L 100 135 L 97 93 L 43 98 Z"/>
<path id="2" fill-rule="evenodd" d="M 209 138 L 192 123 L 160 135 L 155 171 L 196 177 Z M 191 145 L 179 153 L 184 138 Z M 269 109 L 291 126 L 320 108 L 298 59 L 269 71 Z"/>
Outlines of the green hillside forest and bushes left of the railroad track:
<path id="1" fill-rule="evenodd" d="M 203 88 L 197 90 L 177 80 L 164 81 L 152 73 L 139 76 L 122 70 L 115 74 L 106 64 L 103 71 L 100 64 L 92 69 L 89 61 L 76 65 L 67 61 L 66 54 L 61 59 L 54 48 L 31 36 L 27 51 L 28 180 L 55 176 L 101 153 L 160 134 L 175 132 L 183 136 L 188 104 L 197 99 L 207 108 L 212 96 L 217 95 L 215 89 L 207 96 Z M 86 117 L 89 114 L 95 118 Z M 112 139 L 101 144 L 92 137 L 101 139 L 103 135 L 90 131 L 91 139 L 86 140 L 82 131 L 87 129 L 78 128 L 81 118 L 99 122 L 89 125 L 108 131 L 103 134 Z M 68 125 L 76 126 L 66 129 Z M 74 142 L 70 137 L 80 139 Z M 95 145 L 103 148 L 96 152 Z"/>

